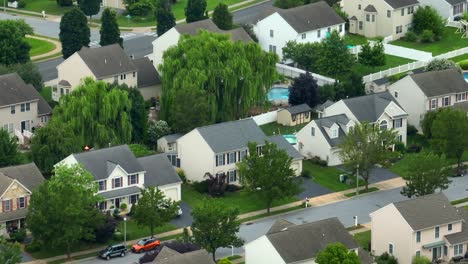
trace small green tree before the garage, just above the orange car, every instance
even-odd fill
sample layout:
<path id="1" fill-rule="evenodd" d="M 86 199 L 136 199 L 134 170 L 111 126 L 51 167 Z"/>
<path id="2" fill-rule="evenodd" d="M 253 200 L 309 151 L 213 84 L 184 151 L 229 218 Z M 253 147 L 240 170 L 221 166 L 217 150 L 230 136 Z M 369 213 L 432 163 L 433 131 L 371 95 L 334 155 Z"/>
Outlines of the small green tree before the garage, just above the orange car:
<path id="1" fill-rule="evenodd" d="M 164 196 L 154 186 L 141 190 L 141 197 L 135 206 L 133 219 L 140 226 L 149 227 L 151 236 L 154 229 L 163 226 L 177 215 L 178 203 Z"/>

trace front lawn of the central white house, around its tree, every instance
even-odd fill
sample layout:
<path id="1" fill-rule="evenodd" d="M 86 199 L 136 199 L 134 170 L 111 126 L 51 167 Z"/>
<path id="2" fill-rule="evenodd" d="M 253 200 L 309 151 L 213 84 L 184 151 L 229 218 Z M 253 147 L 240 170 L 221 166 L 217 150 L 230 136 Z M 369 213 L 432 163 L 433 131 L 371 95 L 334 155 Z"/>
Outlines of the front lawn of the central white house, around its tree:
<path id="1" fill-rule="evenodd" d="M 182 200 L 192 207 L 201 204 L 203 199 L 221 199 L 226 206 L 239 209 L 240 214 L 266 209 L 265 202 L 255 193 L 246 190 L 226 192 L 221 198 L 211 198 L 208 194 L 196 191 L 191 185 L 182 185 Z M 272 207 L 297 201 L 295 197 L 287 197 L 273 202 Z"/>

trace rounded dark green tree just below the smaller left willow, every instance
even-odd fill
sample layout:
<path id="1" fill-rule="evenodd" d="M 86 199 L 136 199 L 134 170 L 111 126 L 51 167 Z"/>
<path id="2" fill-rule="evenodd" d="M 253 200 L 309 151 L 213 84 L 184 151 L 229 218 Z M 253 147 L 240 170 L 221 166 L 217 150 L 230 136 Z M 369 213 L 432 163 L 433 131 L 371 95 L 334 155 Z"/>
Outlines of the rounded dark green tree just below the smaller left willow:
<path id="1" fill-rule="evenodd" d="M 34 132 L 31 154 L 42 173 L 51 175 L 55 164 L 71 153 L 81 152 L 83 147 L 83 143 L 74 135 L 69 125 L 56 123 L 52 119 L 47 126 Z"/>

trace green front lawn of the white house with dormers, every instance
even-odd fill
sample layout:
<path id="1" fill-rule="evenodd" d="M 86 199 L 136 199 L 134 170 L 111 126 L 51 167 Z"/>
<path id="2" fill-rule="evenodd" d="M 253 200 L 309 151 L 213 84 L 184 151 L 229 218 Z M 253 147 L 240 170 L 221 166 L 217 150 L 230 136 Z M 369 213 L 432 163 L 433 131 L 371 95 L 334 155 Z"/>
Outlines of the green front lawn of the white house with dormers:
<path id="1" fill-rule="evenodd" d="M 308 174 L 312 176 L 314 182 L 334 192 L 345 191 L 356 187 L 340 182 L 340 174 L 344 172 L 334 167 L 322 167 L 309 160 L 305 160 L 302 163 L 302 170 L 308 172 Z M 364 183 L 361 180 L 359 186 L 363 185 Z"/>

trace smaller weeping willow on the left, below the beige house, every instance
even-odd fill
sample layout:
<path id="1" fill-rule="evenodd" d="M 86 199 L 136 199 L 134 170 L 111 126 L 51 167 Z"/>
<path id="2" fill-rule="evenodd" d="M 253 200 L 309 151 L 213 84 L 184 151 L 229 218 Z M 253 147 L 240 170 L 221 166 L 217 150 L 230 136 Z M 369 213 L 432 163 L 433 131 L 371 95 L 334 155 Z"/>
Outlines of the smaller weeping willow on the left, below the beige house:
<path id="1" fill-rule="evenodd" d="M 55 107 L 52 122 L 67 124 L 84 145 L 103 147 L 132 139 L 128 92 L 86 79 Z"/>

